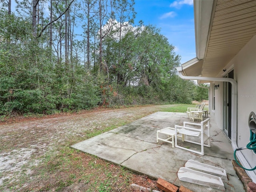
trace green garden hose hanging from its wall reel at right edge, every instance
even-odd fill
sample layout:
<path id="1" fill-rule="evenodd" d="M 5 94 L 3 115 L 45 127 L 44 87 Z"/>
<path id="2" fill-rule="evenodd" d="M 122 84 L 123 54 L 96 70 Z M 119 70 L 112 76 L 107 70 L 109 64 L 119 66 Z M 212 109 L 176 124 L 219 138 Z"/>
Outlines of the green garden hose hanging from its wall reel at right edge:
<path id="1" fill-rule="evenodd" d="M 244 170 L 253 171 L 256 169 L 256 166 L 252 169 L 246 169 L 240 163 L 238 163 L 238 160 L 236 159 L 236 151 L 243 150 L 243 149 L 250 149 L 253 150 L 253 152 L 256 154 L 256 115 L 254 112 L 251 112 L 249 115 L 249 128 L 250 128 L 250 142 L 246 145 L 246 147 L 237 148 L 234 151 L 234 158 L 236 160 L 236 163 L 243 168 Z"/>

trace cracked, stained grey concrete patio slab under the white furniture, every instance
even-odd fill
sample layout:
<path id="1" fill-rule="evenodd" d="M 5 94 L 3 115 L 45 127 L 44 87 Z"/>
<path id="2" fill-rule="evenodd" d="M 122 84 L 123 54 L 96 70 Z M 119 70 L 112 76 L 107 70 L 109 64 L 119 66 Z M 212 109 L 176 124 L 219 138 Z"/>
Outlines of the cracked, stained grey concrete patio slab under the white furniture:
<path id="1" fill-rule="evenodd" d="M 162 178 L 176 186 L 185 186 L 194 192 L 220 192 L 221 190 L 180 181 L 178 170 L 192 159 L 226 170 L 228 181 L 223 180 L 226 192 L 244 192 L 232 165 L 233 150 L 229 140 L 211 120 L 211 148 L 205 147 L 200 156 L 167 142 L 156 142 L 156 131 L 165 127 L 182 125 L 189 121 L 185 113 L 156 112 L 71 147 L 99 158 L 124 166 L 152 178 Z M 181 142 L 181 139 L 178 140 Z M 182 142 L 181 142 L 182 143 Z M 182 143 L 188 148 L 200 146 Z"/>

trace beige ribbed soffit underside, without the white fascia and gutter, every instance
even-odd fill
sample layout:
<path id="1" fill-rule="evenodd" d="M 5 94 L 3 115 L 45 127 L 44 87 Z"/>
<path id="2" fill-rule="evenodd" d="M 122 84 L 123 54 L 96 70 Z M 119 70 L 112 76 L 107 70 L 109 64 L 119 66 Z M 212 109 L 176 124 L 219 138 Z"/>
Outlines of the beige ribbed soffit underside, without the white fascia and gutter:
<path id="1" fill-rule="evenodd" d="M 255 35 L 256 0 L 218 0 L 213 7 L 202 76 L 217 76 Z"/>

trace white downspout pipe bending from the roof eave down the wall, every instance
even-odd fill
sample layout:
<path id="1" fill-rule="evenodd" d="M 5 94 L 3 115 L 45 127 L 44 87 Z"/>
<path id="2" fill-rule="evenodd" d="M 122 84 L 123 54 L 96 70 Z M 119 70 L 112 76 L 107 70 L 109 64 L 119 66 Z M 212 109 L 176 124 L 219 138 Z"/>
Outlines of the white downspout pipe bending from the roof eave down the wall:
<path id="1" fill-rule="evenodd" d="M 176 67 L 179 72 L 179 76 L 185 80 L 203 80 L 203 81 L 219 81 L 219 82 L 230 82 L 232 84 L 232 101 L 231 101 L 231 122 L 232 132 L 231 132 L 231 145 L 233 150 L 237 149 L 237 82 L 232 78 L 217 78 L 217 77 L 194 77 L 194 76 L 183 76 L 182 75 L 182 67 Z M 244 157 L 241 151 L 236 152 L 236 156 L 242 163 L 244 167 L 250 168 L 250 164 Z M 253 182 L 256 182 L 255 173 L 253 171 L 246 171 L 246 173 L 250 176 Z"/>

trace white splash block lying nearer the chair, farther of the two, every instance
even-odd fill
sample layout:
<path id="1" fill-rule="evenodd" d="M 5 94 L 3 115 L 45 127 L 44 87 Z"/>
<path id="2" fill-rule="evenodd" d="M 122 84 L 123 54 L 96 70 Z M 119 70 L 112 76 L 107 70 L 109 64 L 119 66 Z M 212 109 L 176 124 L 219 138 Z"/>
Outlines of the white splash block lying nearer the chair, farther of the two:
<path id="1" fill-rule="evenodd" d="M 215 167 L 215 166 L 200 163 L 200 162 L 195 161 L 195 160 L 188 160 L 185 164 L 185 167 L 196 170 L 196 171 L 208 173 L 208 174 L 211 174 L 211 175 L 219 176 L 223 180 L 228 180 L 226 170 L 224 170 L 222 168 L 218 168 L 218 167 Z"/>

